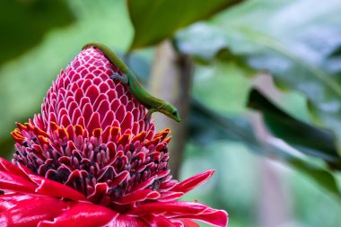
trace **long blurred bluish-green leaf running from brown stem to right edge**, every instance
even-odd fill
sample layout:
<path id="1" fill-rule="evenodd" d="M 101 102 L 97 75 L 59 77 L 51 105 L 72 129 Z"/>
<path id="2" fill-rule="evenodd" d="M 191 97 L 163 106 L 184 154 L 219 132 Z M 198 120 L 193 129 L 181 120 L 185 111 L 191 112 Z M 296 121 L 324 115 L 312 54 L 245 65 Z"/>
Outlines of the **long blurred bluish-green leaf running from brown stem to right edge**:
<path id="1" fill-rule="evenodd" d="M 341 193 L 337 188 L 336 179 L 328 170 L 294 155 L 291 151 L 293 148 L 290 146 L 273 143 L 271 140 L 259 140 L 246 118 L 223 117 L 214 110 L 207 109 L 199 101 L 192 100 L 189 120 L 189 135 L 195 144 L 205 145 L 212 141 L 226 139 L 240 141 L 255 153 L 290 164 L 296 170 L 305 173 L 320 187 L 340 198 Z"/>

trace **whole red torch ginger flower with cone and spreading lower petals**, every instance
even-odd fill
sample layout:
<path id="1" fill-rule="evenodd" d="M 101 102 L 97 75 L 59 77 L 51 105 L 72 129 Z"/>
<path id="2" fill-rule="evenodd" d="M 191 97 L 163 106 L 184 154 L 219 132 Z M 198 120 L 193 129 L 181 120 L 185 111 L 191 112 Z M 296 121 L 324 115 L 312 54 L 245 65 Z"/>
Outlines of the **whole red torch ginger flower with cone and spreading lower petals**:
<path id="1" fill-rule="evenodd" d="M 222 210 L 175 201 L 214 170 L 171 179 L 170 130 L 144 124 L 146 109 L 111 70 L 101 51 L 83 50 L 41 115 L 17 124 L 13 163 L 0 159 L 0 226 L 226 226 Z"/>

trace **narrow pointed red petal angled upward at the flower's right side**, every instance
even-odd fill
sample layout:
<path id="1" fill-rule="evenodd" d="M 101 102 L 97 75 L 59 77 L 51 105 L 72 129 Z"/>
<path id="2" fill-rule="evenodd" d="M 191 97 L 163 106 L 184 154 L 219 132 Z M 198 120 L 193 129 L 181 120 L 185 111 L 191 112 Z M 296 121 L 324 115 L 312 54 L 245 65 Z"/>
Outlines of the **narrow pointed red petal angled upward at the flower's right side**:
<path id="1" fill-rule="evenodd" d="M 189 179 L 185 179 L 171 190 L 186 193 L 192 190 L 193 188 L 197 188 L 199 185 L 204 184 L 207 179 L 210 179 L 212 177 L 214 171 L 215 170 L 207 170 Z"/>

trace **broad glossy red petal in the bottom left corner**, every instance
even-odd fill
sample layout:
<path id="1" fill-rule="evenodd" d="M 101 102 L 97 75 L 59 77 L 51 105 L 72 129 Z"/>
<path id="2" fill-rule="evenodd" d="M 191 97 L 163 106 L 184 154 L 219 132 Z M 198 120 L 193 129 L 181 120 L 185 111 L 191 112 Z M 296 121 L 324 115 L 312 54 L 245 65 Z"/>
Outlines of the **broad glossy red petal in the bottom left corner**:
<path id="1" fill-rule="evenodd" d="M 10 194 L 0 196 L 0 226 L 31 227 L 52 220 L 68 203 L 57 198 Z M 53 209 L 51 209 L 53 207 Z"/>

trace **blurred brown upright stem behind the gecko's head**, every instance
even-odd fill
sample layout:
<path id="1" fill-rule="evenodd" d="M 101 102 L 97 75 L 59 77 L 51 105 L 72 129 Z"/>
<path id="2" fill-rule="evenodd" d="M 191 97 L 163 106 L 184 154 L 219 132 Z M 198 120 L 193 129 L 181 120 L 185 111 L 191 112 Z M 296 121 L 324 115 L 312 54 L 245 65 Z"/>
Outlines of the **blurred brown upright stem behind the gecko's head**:
<path id="1" fill-rule="evenodd" d="M 189 90 L 192 80 L 192 62 L 189 57 L 179 55 L 172 48 L 170 41 L 162 42 L 157 48 L 150 78 L 152 93 L 163 100 L 170 101 L 178 109 L 181 122 L 177 123 L 163 115 L 153 114 L 159 129 L 170 127 L 170 170 L 177 178 L 182 154 L 187 142 L 187 123 Z"/>

